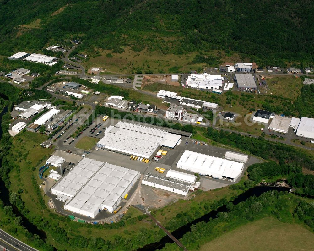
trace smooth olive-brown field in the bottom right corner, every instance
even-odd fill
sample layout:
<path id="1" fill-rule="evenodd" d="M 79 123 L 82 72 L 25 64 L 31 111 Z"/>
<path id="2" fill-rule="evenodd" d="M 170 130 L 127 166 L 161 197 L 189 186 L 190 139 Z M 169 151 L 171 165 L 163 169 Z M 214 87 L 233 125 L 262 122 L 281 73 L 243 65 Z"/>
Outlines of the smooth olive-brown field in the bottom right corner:
<path id="1" fill-rule="evenodd" d="M 312 232 L 297 224 L 263 218 L 241 226 L 201 246 L 201 251 L 310 251 L 314 247 Z"/>

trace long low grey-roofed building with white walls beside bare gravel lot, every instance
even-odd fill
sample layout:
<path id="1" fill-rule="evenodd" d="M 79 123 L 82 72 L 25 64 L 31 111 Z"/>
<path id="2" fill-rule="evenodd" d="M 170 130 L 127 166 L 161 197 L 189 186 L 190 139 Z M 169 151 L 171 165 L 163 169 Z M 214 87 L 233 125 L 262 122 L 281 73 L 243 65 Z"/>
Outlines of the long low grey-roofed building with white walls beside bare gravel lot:
<path id="1" fill-rule="evenodd" d="M 144 175 L 142 184 L 154 188 L 160 188 L 172 193 L 187 196 L 192 184 L 178 179 L 159 176 L 151 173 Z"/>

